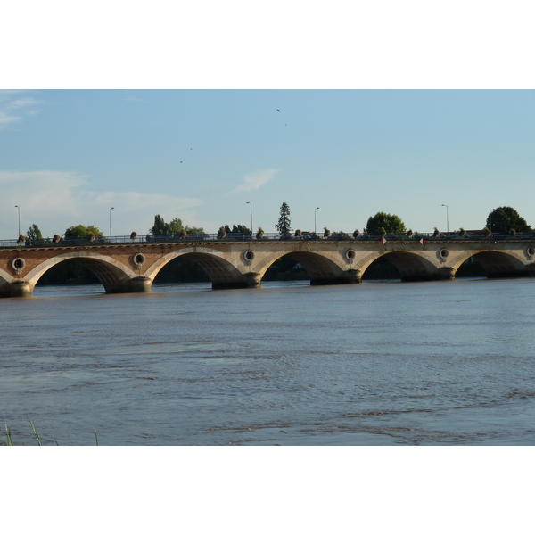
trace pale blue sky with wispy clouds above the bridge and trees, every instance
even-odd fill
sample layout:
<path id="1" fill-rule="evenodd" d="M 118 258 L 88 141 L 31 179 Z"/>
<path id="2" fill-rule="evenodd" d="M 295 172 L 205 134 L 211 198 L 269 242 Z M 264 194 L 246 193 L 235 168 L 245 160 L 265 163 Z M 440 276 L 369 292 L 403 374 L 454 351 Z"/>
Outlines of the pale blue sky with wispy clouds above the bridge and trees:
<path id="1" fill-rule="evenodd" d="M 277 111 L 280 110 L 280 111 Z M 155 214 L 215 232 L 535 226 L 531 90 L 8 90 L 0 93 L 0 236 L 33 223 L 145 234 Z"/>

